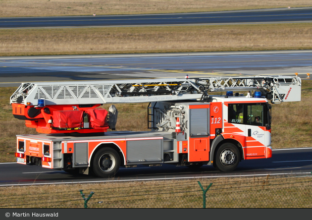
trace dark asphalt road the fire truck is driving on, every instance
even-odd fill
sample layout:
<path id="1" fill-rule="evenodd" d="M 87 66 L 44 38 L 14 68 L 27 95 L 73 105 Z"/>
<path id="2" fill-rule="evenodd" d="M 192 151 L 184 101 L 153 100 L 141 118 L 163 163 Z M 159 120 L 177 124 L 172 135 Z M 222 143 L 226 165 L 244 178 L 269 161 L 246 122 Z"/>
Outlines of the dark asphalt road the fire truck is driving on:
<path id="1" fill-rule="evenodd" d="M 162 165 L 136 168 L 120 168 L 114 178 L 100 178 L 89 175 L 72 175 L 61 170 L 41 166 L 0 164 L 0 186 L 70 184 L 108 181 L 169 180 L 190 178 L 214 178 L 222 176 L 263 175 L 311 175 L 312 148 L 273 150 L 272 158 L 242 161 L 232 172 L 220 172 L 213 166 L 198 169 L 186 166 Z"/>

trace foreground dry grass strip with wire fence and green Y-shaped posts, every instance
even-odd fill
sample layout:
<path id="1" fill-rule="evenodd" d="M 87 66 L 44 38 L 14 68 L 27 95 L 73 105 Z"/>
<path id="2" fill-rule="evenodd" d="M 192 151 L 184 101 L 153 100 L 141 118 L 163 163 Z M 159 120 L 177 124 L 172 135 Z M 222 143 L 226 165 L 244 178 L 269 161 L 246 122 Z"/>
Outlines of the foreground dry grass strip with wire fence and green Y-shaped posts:
<path id="1" fill-rule="evenodd" d="M 0 188 L 0 208 L 312 208 L 311 175 L 66 186 L 75 187 L 31 195 Z"/>

